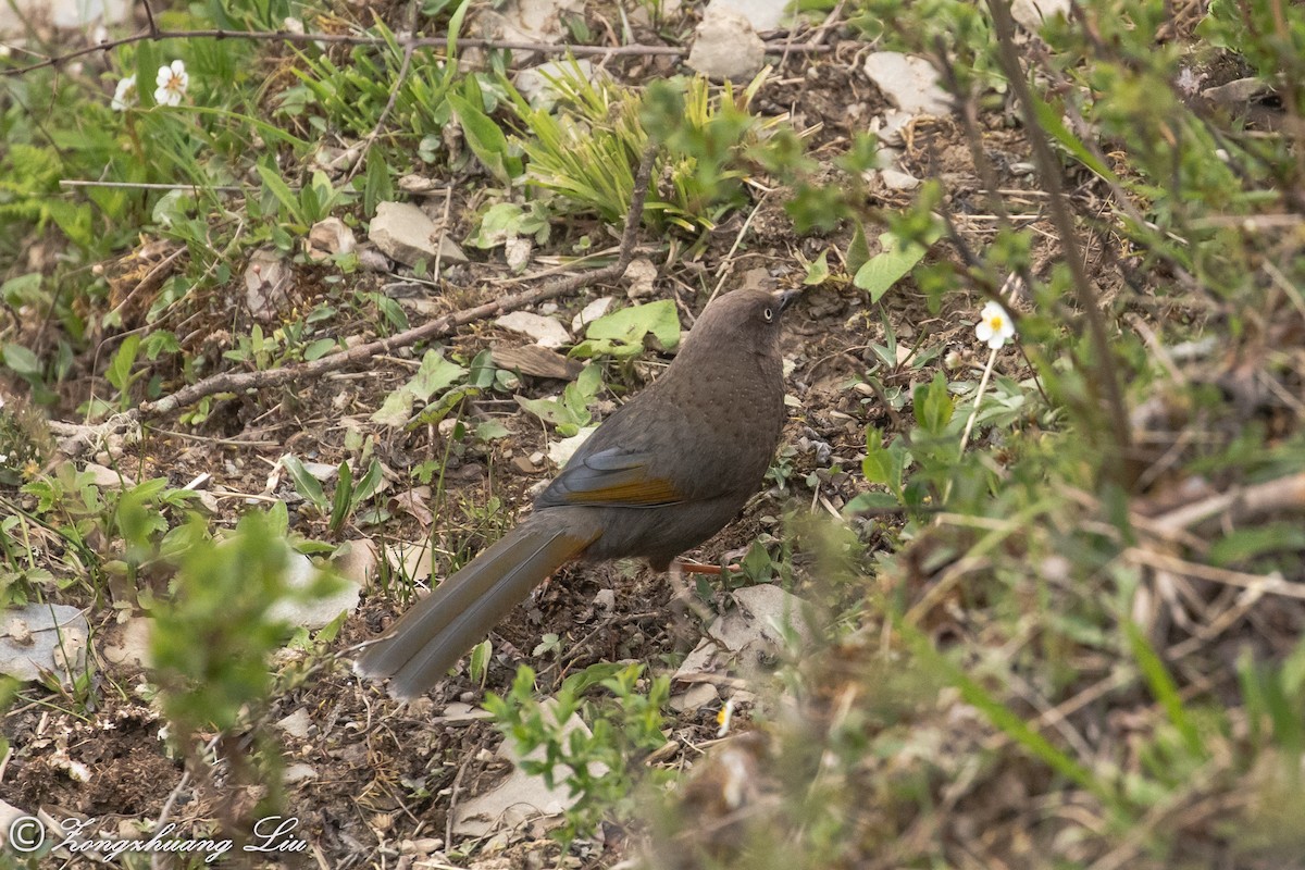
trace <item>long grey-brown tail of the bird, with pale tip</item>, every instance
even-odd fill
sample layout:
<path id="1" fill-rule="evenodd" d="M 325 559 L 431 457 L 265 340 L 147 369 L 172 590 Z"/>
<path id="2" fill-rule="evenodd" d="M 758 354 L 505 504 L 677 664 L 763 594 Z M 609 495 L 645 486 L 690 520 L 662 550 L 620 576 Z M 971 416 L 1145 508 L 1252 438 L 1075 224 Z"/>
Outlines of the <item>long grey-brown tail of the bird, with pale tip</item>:
<path id="1" fill-rule="evenodd" d="M 435 587 L 354 663 L 412 698 L 448 673 L 506 613 L 592 543 L 561 523 L 530 519 Z"/>

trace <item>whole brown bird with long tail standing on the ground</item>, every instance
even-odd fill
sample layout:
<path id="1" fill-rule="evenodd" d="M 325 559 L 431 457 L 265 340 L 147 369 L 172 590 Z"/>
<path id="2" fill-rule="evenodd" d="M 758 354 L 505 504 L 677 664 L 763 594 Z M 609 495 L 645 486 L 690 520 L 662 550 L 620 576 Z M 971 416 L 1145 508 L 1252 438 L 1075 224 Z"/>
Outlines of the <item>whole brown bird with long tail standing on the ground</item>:
<path id="1" fill-rule="evenodd" d="M 795 296 L 737 290 L 707 305 L 662 377 L 589 437 L 534 513 L 418 601 L 355 670 L 411 698 L 562 563 L 638 556 L 666 571 L 720 531 L 779 443 L 779 318 Z"/>

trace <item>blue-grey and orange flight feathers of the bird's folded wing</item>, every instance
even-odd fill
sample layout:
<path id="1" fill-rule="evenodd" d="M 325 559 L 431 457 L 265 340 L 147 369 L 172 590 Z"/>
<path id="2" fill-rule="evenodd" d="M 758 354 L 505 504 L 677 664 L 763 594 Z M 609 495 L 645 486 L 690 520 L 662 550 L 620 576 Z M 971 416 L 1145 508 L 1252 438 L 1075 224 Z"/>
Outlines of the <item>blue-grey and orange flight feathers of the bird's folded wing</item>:
<path id="1" fill-rule="evenodd" d="M 577 455 L 535 501 L 536 507 L 662 507 L 684 501 L 666 477 L 649 473 L 649 453 L 608 447 Z"/>

